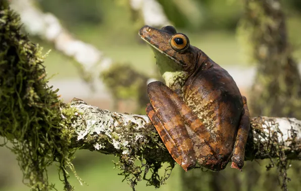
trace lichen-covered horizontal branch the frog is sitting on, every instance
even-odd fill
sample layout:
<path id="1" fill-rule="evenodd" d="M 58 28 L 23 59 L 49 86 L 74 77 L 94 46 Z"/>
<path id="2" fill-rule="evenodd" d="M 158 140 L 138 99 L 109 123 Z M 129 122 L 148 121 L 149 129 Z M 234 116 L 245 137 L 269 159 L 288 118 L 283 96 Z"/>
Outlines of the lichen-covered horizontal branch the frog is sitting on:
<path id="1" fill-rule="evenodd" d="M 158 162 L 172 160 L 147 116 L 103 111 L 79 99 L 73 99 L 71 107 L 78 111 L 78 120 L 73 125 L 76 147 L 120 156 L 135 152 L 137 156 Z M 287 159 L 301 159 L 301 121 L 257 117 L 252 118 L 251 129 L 246 160 L 278 157 L 279 149 Z"/>

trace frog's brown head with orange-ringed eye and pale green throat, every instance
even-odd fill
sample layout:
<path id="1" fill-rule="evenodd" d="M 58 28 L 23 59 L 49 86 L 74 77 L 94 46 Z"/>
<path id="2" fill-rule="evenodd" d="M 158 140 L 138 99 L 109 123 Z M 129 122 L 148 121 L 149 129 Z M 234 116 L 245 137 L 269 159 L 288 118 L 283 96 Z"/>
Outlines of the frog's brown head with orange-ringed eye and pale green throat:
<path id="1" fill-rule="evenodd" d="M 188 37 L 177 33 L 174 27 L 159 30 L 144 26 L 139 35 L 153 48 L 162 75 L 166 71 L 184 71 L 189 75 L 197 67 L 200 50 L 191 46 Z"/>

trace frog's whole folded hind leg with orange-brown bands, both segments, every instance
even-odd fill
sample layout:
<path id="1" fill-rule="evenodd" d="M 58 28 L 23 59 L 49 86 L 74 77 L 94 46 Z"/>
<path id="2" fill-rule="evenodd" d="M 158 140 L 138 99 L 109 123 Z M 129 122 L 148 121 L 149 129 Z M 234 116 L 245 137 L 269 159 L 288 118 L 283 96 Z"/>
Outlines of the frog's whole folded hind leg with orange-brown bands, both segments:
<path id="1" fill-rule="evenodd" d="M 181 163 L 175 159 L 178 164 L 185 170 L 192 168 L 196 163 L 194 148 L 205 146 L 215 153 L 210 145 L 213 140 L 209 131 L 178 94 L 160 81 L 149 83 L 147 91 L 154 113 L 162 124 L 159 128 L 164 129 L 164 132 L 167 133 L 168 136 L 165 137 L 169 137 L 165 141 L 160 135 L 163 142 L 165 145 L 173 145 L 170 148 L 167 146 L 173 158 L 177 158 L 177 154 L 174 152 L 176 149 L 182 157 Z M 202 155 L 202 153 L 197 154 Z"/>

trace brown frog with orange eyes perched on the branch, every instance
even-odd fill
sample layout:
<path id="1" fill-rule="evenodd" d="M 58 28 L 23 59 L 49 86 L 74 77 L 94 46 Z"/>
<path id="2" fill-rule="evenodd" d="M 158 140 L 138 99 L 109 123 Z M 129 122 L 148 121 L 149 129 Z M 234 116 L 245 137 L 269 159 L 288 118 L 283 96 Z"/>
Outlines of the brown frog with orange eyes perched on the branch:
<path id="1" fill-rule="evenodd" d="M 242 170 L 250 128 L 246 98 L 232 76 L 173 26 L 143 26 L 164 82 L 147 84 L 146 114 L 185 170 Z"/>

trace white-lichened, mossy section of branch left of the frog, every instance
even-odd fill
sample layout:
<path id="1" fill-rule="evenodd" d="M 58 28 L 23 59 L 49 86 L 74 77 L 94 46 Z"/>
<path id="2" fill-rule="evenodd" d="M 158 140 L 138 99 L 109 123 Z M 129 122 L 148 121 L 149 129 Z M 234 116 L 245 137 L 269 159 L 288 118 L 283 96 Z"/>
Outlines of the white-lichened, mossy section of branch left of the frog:
<path id="1" fill-rule="evenodd" d="M 125 176 L 133 189 L 142 179 L 147 185 L 160 187 L 168 178 L 175 163 L 147 116 L 100 110 L 80 99 L 73 99 L 71 107 L 80 116 L 73 124 L 77 127 L 76 144 L 83 145 L 81 149 L 118 156 L 115 168 L 122 171 L 119 174 Z M 160 176 L 158 171 L 163 162 L 170 165 Z"/>

